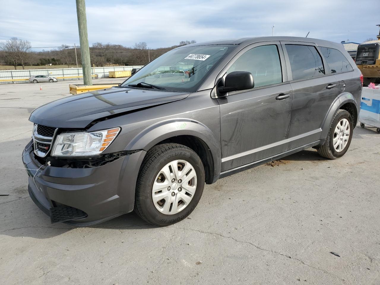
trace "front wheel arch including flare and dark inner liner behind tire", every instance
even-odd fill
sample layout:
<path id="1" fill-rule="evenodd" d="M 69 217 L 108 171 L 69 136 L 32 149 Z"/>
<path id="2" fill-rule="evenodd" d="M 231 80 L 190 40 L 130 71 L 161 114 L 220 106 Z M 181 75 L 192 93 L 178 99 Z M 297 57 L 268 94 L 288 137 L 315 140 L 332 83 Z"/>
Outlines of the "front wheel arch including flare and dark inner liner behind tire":
<path id="1" fill-rule="evenodd" d="M 156 123 L 133 138 L 126 150 L 148 151 L 157 144 L 173 142 L 193 149 L 201 158 L 206 174 L 206 183 L 215 182 L 221 170 L 220 138 L 204 124 L 190 119 L 166 120 Z"/>

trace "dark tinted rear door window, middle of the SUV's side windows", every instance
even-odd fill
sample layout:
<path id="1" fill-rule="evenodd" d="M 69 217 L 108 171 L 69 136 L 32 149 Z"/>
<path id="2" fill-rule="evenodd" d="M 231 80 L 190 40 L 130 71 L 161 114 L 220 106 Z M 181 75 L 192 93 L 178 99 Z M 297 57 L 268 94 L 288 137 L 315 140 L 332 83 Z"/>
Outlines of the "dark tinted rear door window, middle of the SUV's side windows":
<path id="1" fill-rule="evenodd" d="M 293 80 L 312 78 L 325 74 L 321 56 L 314 46 L 285 44 L 290 60 Z"/>

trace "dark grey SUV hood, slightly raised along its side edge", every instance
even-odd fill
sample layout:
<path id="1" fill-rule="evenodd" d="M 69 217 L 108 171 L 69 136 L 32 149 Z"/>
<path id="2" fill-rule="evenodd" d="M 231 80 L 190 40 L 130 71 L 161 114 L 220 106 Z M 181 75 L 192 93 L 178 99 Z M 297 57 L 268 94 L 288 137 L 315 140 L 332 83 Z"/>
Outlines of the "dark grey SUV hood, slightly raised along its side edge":
<path id="1" fill-rule="evenodd" d="M 103 117 L 186 98 L 189 93 L 112 87 L 59 99 L 30 114 L 29 120 L 55 128 L 85 128 Z"/>

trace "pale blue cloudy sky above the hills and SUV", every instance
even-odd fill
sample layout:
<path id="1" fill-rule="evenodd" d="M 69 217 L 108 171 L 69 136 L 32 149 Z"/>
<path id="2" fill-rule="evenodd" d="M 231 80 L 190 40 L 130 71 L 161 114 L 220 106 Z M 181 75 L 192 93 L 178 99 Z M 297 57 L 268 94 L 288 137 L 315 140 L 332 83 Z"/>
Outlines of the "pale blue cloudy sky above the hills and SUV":
<path id="1" fill-rule="evenodd" d="M 0 41 L 15 36 L 33 47 L 79 45 L 74 0 L 0 0 L 0 7 Z M 150 48 L 181 40 L 269 36 L 272 25 L 275 36 L 310 31 L 310 38 L 361 43 L 379 32 L 378 13 L 371 13 L 375 7 L 378 0 L 86 1 L 90 45 L 145 41 Z"/>

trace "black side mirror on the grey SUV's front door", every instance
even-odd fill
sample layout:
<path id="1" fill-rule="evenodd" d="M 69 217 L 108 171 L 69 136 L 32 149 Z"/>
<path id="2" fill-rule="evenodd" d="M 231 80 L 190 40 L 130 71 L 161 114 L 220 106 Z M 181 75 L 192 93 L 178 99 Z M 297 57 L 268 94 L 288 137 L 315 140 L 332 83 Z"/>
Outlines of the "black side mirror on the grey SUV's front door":
<path id="1" fill-rule="evenodd" d="M 247 90 L 255 87 L 253 76 L 248 71 L 234 71 L 228 73 L 224 80 L 224 86 L 218 88 L 220 94 L 228 92 Z"/>

